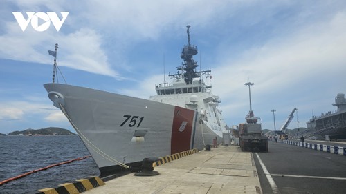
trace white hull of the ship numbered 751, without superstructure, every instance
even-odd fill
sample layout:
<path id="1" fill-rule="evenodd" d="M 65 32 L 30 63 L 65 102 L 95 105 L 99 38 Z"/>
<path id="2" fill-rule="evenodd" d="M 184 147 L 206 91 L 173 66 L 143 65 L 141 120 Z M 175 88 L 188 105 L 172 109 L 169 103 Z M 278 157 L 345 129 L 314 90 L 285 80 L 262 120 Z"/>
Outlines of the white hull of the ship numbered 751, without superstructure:
<path id="1" fill-rule="evenodd" d="M 145 157 L 203 149 L 221 137 L 197 111 L 66 84 L 45 84 L 100 168 L 101 175 L 136 166 Z"/>

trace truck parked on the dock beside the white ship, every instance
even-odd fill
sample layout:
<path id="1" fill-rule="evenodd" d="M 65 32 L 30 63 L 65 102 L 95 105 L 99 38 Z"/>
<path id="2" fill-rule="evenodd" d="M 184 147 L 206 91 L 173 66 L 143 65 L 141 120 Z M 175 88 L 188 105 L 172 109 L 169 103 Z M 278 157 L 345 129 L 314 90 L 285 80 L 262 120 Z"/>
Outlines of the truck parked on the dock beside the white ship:
<path id="1" fill-rule="evenodd" d="M 257 123 L 250 110 L 246 117 L 246 123 L 239 124 L 239 146 L 242 151 L 268 152 L 268 137 L 262 133 L 262 124 Z"/>

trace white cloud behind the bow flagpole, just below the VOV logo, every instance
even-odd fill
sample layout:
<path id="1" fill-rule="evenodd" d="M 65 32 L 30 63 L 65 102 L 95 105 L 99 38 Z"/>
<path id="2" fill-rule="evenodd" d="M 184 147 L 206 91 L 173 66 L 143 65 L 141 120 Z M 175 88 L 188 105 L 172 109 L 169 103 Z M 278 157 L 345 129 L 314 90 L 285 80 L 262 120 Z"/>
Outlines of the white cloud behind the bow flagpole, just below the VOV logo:
<path id="1" fill-rule="evenodd" d="M 1 43 L 6 45 L 0 48 L 3 59 L 52 64 L 48 50 L 54 50 L 55 43 L 59 43 L 57 58 L 60 66 L 122 79 L 111 68 L 102 48 L 102 37 L 95 30 L 80 28 L 66 35 L 56 32 L 53 27 L 46 32 L 37 32 L 33 28 L 22 32 L 17 22 L 7 22 L 5 28 L 6 34 L 0 36 Z"/>

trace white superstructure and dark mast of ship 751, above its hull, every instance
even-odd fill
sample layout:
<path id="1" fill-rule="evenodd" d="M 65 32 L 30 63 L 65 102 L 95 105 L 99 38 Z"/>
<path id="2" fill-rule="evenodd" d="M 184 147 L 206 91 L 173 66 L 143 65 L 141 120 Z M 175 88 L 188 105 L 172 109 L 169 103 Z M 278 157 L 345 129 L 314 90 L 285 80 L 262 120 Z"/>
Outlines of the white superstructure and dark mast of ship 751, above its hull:
<path id="1" fill-rule="evenodd" d="M 222 137 L 226 124 L 222 119 L 219 96 L 212 95 L 212 86 L 207 86 L 203 77 L 211 79 L 211 70 L 197 71 L 198 64 L 193 56 L 197 55 L 197 46 L 190 44 L 190 26 L 188 28 L 188 45 L 181 50 L 182 66 L 177 67 L 176 74 L 169 74 L 171 84 L 156 84 L 156 94 L 150 100 L 180 106 L 199 113 L 199 122 L 206 124 L 214 133 Z"/>

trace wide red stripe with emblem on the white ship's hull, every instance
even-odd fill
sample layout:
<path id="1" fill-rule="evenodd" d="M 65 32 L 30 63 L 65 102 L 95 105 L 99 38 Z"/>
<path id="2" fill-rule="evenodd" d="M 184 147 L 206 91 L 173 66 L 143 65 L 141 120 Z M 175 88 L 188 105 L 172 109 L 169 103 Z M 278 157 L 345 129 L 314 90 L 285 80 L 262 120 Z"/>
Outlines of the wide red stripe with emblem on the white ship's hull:
<path id="1" fill-rule="evenodd" d="M 172 126 L 171 154 L 190 149 L 194 111 L 176 106 Z"/>

